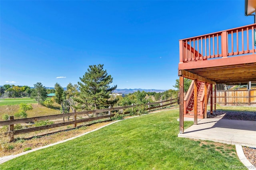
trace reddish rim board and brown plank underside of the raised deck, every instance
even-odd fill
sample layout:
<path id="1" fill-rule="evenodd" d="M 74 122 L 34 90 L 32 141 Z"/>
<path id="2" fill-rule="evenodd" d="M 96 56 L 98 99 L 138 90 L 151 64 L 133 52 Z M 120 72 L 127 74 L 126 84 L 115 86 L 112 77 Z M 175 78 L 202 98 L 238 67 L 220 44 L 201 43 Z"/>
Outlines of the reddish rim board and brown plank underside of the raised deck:
<path id="1" fill-rule="evenodd" d="M 248 81 L 256 81 L 256 54 L 208 60 L 203 61 L 203 64 L 200 62 L 180 63 L 179 70 L 181 69 L 217 84 L 246 84 Z"/>

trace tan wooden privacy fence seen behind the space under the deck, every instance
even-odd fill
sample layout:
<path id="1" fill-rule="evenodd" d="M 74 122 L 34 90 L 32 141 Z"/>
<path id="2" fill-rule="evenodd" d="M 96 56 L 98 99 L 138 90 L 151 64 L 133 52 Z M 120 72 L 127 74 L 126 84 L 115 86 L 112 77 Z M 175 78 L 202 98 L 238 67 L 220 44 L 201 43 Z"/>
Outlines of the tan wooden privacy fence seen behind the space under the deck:
<path id="1" fill-rule="evenodd" d="M 256 89 L 216 91 L 216 103 L 227 106 L 254 106 L 256 105 Z"/>

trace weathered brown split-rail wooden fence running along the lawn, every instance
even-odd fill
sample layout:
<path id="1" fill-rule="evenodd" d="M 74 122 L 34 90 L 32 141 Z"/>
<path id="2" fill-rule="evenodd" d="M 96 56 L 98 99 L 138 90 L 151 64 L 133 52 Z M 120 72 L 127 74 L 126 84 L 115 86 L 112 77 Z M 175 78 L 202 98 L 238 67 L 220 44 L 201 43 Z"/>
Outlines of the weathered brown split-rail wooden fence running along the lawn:
<path id="1" fill-rule="evenodd" d="M 24 134 L 24 133 L 29 133 L 29 132 L 35 132 L 39 130 L 46 130 L 50 128 L 56 128 L 56 127 L 63 127 L 67 125 L 74 125 L 74 127 L 77 126 L 78 123 L 84 123 L 84 122 L 89 122 L 89 121 L 95 121 L 95 120 L 100 120 L 100 119 L 106 119 L 106 118 L 111 118 L 114 117 L 116 114 L 129 114 L 130 112 L 125 111 L 125 109 L 136 109 L 138 107 L 146 107 L 146 110 L 152 110 L 156 108 L 163 108 L 166 106 L 170 106 L 177 103 L 177 99 L 170 99 L 166 101 L 159 101 L 159 102 L 154 102 L 154 103 L 146 103 L 143 105 L 130 105 L 130 106 L 124 106 L 124 107 L 109 107 L 108 109 L 99 109 L 99 110 L 93 110 L 93 111 L 82 111 L 82 112 L 76 112 L 74 111 L 73 113 L 65 113 L 65 114 L 58 114 L 58 115 L 49 115 L 49 116 L 41 116 L 41 117 L 31 117 L 31 118 L 25 118 L 25 119 L 14 119 L 13 116 L 9 117 L 8 121 L 0 121 L 0 126 L 6 126 L 8 125 L 8 132 L 5 132 L 9 137 L 10 141 L 14 140 L 14 135 L 18 134 Z M 114 112 L 114 113 L 112 113 Z M 81 115 L 90 115 L 90 114 L 96 114 L 96 113 L 107 113 L 106 115 L 100 115 L 96 117 L 89 117 L 85 119 L 77 119 L 77 116 Z M 39 127 L 31 127 L 31 128 L 24 128 L 24 129 L 19 129 L 19 130 L 14 130 L 14 125 L 20 124 L 20 123 L 33 123 L 37 121 L 45 121 L 45 120 L 53 120 L 53 119 L 63 119 L 64 117 L 72 117 L 72 121 L 67 121 L 67 122 L 62 122 L 62 123 L 54 123 L 52 125 L 44 125 L 44 126 L 39 126 Z"/>

